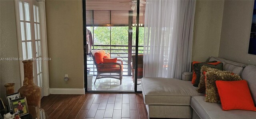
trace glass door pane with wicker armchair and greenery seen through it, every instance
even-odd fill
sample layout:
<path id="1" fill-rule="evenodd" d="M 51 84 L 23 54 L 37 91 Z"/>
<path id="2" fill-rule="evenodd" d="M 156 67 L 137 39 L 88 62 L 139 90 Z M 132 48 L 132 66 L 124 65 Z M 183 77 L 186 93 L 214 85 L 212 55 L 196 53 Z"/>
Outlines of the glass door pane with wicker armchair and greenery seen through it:
<path id="1" fill-rule="evenodd" d="M 136 10 L 131 8 L 130 2 L 131 0 L 86 0 L 86 6 L 83 6 L 86 7 L 86 27 L 91 33 L 86 35 L 86 42 L 90 42 L 90 38 L 93 41 L 93 44 L 89 43 L 91 48 L 86 49 L 87 68 L 92 75 L 92 81 L 87 78 L 87 86 L 92 87 L 88 91 L 134 92 L 131 62 L 134 47 L 132 21 L 136 17 L 136 14 L 133 16 Z M 104 50 L 104 55 L 110 54 L 109 60 L 116 59 L 111 65 L 95 63 L 96 57 L 90 52 L 94 50 Z"/>

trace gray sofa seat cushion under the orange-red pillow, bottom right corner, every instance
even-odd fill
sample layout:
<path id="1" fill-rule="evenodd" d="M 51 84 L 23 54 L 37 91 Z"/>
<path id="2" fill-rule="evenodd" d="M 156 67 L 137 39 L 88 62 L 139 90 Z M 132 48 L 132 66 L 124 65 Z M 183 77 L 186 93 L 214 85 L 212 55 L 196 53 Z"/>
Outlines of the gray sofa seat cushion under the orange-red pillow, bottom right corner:
<path id="1" fill-rule="evenodd" d="M 191 107 L 201 119 L 256 119 L 255 111 L 223 111 L 220 104 L 205 102 L 204 98 L 205 96 L 193 96 L 191 99 Z"/>

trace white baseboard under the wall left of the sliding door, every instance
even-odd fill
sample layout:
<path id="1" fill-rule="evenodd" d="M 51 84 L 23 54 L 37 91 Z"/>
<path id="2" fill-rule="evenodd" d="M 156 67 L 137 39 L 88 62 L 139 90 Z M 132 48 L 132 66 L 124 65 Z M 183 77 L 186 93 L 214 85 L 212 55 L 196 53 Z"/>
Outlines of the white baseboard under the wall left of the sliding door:
<path id="1" fill-rule="evenodd" d="M 50 88 L 50 94 L 84 94 L 83 88 Z"/>

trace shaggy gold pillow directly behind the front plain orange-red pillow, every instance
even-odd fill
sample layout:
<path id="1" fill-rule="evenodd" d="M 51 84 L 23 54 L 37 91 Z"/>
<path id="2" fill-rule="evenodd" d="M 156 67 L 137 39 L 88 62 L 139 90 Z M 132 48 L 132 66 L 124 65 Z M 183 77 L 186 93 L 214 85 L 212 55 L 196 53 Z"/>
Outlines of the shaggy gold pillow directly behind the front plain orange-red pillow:
<path id="1" fill-rule="evenodd" d="M 239 81 L 242 80 L 241 77 L 234 73 L 229 73 L 230 71 L 208 71 L 206 75 L 206 97 L 204 101 L 211 103 L 220 103 L 220 97 L 218 95 L 218 90 L 215 81 Z"/>

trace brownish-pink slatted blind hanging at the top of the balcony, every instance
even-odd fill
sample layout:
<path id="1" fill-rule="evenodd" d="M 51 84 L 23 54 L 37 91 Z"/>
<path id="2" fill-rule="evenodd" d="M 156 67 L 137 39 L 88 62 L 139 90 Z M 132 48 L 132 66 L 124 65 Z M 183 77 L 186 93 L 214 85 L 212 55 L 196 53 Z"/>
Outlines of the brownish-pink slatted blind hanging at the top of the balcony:
<path id="1" fill-rule="evenodd" d="M 128 26 L 131 3 L 132 0 L 86 0 L 86 25 Z M 145 6 L 140 6 L 140 24 L 144 24 Z M 135 8 L 132 24 L 136 24 L 136 11 Z"/>

